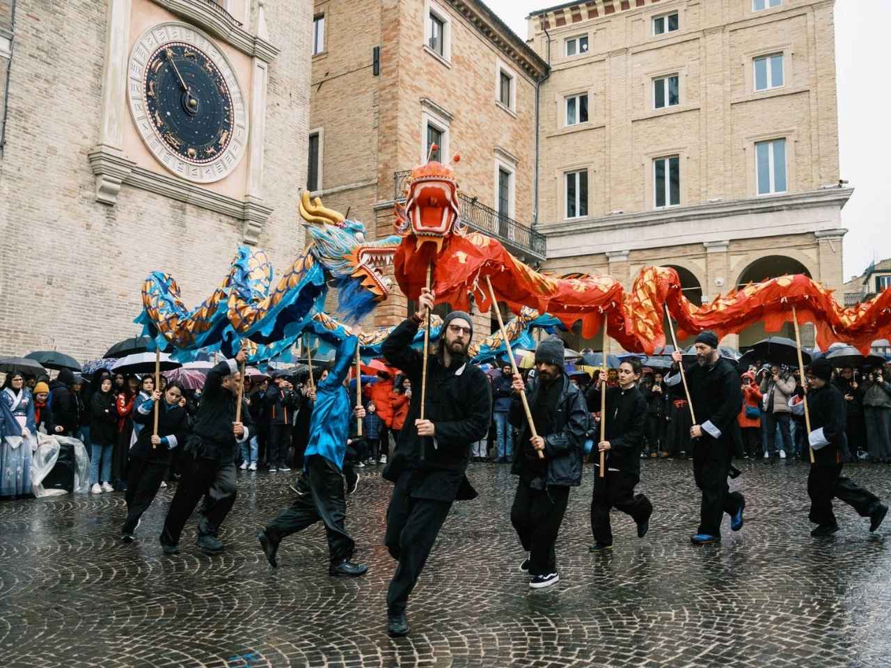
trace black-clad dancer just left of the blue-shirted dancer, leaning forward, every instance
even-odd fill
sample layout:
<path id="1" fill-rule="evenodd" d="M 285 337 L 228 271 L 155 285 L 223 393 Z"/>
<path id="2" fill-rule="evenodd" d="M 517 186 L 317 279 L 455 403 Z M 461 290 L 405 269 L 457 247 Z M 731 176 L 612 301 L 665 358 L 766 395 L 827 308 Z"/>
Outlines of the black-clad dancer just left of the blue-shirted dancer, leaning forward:
<path id="1" fill-rule="evenodd" d="M 249 438 L 250 412 L 247 404 L 241 406 L 241 420 L 235 421 L 235 406 L 241 373 L 238 365 L 247 359 L 244 350 L 233 360 L 224 360 L 210 370 L 204 382 L 204 393 L 192 435 L 186 450 L 192 455 L 187 462 L 183 477 L 176 486 L 176 494 L 170 503 L 160 543 L 166 554 L 179 551 L 179 535 L 186 520 L 198 505 L 204 502 L 198 522 L 198 546 L 208 552 L 223 550 L 217 532 L 235 503 L 235 460 L 238 445 Z"/>

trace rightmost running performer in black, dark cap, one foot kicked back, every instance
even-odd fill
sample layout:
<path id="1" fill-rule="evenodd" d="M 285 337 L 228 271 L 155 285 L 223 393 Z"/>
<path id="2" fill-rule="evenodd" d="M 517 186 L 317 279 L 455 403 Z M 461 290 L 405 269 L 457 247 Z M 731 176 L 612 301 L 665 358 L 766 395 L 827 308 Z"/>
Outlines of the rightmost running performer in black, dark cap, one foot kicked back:
<path id="1" fill-rule="evenodd" d="M 874 532 L 887 515 L 888 507 L 879 497 L 858 487 L 841 475 L 846 427 L 845 399 L 832 379 L 832 364 L 825 358 L 814 360 L 807 370 L 807 411 L 811 419 L 808 435 L 813 448 L 813 464 L 807 475 L 807 495 L 811 497 L 808 518 L 817 525 L 812 536 L 828 536 L 838 531 L 832 499 L 845 501 L 860 517 L 870 518 Z M 792 406 L 793 412 L 804 413 L 803 403 Z"/>

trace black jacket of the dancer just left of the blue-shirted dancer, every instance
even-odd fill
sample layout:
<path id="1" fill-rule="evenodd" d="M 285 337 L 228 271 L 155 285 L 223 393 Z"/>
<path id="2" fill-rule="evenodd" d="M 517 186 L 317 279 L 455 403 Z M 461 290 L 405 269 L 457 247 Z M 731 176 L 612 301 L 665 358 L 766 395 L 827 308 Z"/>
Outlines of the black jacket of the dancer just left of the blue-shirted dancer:
<path id="1" fill-rule="evenodd" d="M 239 443 L 235 442 L 232 423 L 235 421 L 236 396 L 223 387 L 223 379 L 236 371 L 235 360 L 223 360 L 208 373 L 204 381 L 201 403 L 192 425 L 188 451 L 196 457 L 217 460 L 220 463 L 234 461 Z M 253 421 L 246 403 L 241 406 L 241 423 L 248 430 L 244 439 L 250 438 Z"/>

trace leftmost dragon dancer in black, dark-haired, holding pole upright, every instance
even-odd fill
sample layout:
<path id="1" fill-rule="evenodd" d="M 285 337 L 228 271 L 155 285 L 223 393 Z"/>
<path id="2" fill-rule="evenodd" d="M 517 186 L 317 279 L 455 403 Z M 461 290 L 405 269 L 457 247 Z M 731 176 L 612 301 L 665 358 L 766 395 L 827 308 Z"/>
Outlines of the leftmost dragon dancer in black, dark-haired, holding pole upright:
<path id="1" fill-rule="evenodd" d="M 155 390 L 151 399 L 134 407 L 133 421 L 143 428 L 130 448 L 127 492 L 124 494 L 127 520 L 121 527 L 123 542 L 135 540 L 136 527 L 158 493 L 173 453 L 185 444 L 189 418 L 185 408 L 180 406 L 182 398 L 183 386 L 174 380 L 168 383 L 163 393 Z M 155 403 L 158 404 L 158 436 L 153 434 Z"/>

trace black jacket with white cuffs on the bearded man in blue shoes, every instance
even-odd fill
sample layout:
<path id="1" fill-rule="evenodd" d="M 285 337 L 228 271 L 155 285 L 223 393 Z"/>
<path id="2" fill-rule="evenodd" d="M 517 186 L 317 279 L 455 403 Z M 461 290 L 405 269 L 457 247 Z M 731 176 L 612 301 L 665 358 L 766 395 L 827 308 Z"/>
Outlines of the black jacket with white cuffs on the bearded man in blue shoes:
<path id="1" fill-rule="evenodd" d="M 719 358 L 712 366 L 699 366 L 694 362 L 684 371 L 693 411 L 696 412 L 695 424 L 702 427 L 703 439 L 716 439 L 721 444 L 732 447 L 732 426 L 737 423 L 742 410 L 740 374 L 723 358 Z M 666 382 L 680 388 L 677 390 L 678 396 L 683 397 L 681 374 L 675 372 L 674 368 Z"/>

